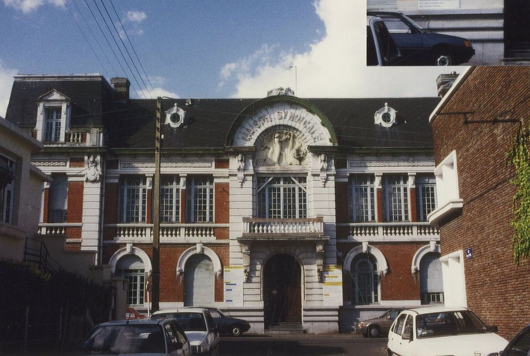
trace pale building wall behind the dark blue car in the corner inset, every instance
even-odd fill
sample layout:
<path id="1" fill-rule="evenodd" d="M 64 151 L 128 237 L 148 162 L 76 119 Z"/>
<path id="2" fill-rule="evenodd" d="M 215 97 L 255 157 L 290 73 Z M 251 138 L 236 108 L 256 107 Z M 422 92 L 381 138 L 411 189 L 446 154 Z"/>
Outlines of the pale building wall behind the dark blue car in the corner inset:
<path id="1" fill-rule="evenodd" d="M 368 9 L 401 11 L 432 32 L 469 39 L 467 65 L 527 65 L 530 5 L 525 0 L 367 0 Z"/>

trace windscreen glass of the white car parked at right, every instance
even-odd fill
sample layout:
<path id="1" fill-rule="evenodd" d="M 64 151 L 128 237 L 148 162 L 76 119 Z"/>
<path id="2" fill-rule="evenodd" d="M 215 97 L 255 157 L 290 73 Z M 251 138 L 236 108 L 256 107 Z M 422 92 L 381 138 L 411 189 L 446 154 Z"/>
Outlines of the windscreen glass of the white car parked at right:
<path id="1" fill-rule="evenodd" d="M 489 328 L 469 310 L 416 316 L 416 336 L 425 337 L 473 334 L 489 332 Z"/>

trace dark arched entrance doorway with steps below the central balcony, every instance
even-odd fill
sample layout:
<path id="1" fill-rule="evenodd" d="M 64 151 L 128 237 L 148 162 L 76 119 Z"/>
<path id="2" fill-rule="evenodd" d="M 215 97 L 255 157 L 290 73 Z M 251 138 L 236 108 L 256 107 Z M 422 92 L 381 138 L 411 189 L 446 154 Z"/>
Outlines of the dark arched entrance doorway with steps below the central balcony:
<path id="1" fill-rule="evenodd" d="M 263 270 L 265 327 L 302 322 L 302 273 L 293 256 L 277 254 Z"/>

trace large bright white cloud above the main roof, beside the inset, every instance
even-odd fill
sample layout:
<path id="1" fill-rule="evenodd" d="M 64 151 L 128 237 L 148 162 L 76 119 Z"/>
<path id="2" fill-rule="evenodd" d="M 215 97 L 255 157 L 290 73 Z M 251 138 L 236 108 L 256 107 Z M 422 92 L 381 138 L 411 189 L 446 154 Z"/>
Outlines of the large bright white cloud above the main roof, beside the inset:
<path id="1" fill-rule="evenodd" d="M 436 96 L 436 77 L 455 67 L 366 67 L 365 4 L 315 2 L 325 24 L 321 40 L 303 53 L 263 44 L 226 64 L 218 88 L 233 87 L 233 97 L 262 97 L 277 87 L 291 87 L 299 97 Z M 291 65 L 296 68 L 286 70 Z"/>

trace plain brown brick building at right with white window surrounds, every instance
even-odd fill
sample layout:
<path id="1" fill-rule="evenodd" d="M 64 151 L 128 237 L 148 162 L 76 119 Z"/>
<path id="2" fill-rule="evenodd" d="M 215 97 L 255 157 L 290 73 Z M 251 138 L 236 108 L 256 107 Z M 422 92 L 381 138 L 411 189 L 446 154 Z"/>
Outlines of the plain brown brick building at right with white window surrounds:
<path id="1" fill-rule="evenodd" d="M 435 140 L 439 225 L 447 304 L 464 305 L 513 337 L 530 319 L 527 260 L 514 263 L 516 133 L 528 127 L 529 67 L 470 67 L 430 117 Z"/>

